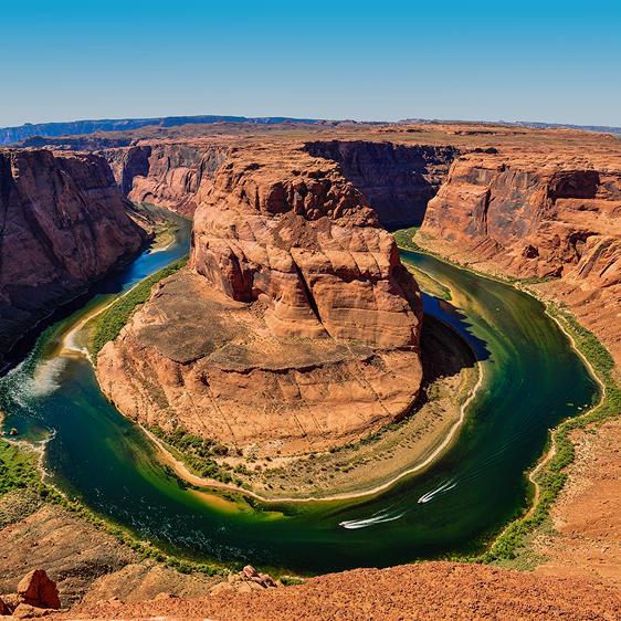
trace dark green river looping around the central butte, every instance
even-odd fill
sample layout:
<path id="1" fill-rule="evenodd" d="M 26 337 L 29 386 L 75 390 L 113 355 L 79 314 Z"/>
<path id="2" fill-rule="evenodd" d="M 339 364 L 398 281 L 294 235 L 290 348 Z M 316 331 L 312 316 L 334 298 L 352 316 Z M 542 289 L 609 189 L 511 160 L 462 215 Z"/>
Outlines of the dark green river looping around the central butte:
<path id="1" fill-rule="evenodd" d="M 183 243 L 166 257 L 143 256 L 123 286 L 185 254 Z M 84 358 L 46 359 L 54 328 L 0 383 L 7 427 L 32 441 L 52 432 L 45 467 L 55 484 L 140 538 L 194 557 L 322 572 L 480 549 L 525 505 L 524 472 L 547 430 L 587 408 L 598 388 L 534 298 L 430 256 L 402 260 L 452 290 L 451 304 L 425 296 L 425 312 L 473 345 L 484 380 L 451 451 L 373 497 L 219 507 L 181 490 L 143 432 L 105 401 Z"/>

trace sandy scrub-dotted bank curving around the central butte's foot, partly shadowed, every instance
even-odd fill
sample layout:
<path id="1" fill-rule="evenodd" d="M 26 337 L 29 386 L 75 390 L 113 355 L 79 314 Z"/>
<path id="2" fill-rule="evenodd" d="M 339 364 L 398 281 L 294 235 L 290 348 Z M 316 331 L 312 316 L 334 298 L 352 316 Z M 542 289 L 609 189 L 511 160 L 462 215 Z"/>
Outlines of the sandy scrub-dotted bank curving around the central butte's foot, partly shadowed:
<path id="1" fill-rule="evenodd" d="M 291 457 L 215 457 L 221 466 L 243 466 L 244 474 L 232 473 L 243 484 L 241 490 L 190 472 L 177 450 L 149 436 L 164 462 L 199 487 L 234 490 L 275 502 L 347 501 L 377 494 L 423 471 L 452 445 L 484 380 L 470 346 L 441 320 L 428 317 L 425 322 L 421 352 L 427 379 L 421 399 L 404 421 L 385 428 L 370 441 Z"/>

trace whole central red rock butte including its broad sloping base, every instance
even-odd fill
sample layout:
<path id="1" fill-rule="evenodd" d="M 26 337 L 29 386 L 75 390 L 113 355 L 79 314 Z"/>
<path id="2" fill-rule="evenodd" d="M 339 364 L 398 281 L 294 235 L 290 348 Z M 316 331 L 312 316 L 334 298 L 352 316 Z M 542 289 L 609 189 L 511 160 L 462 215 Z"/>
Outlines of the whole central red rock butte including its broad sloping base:
<path id="1" fill-rule="evenodd" d="M 233 154 L 197 210 L 191 270 L 99 354 L 126 415 L 270 454 L 345 443 L 411 407 L 420 292 L 336 164 Z"/>

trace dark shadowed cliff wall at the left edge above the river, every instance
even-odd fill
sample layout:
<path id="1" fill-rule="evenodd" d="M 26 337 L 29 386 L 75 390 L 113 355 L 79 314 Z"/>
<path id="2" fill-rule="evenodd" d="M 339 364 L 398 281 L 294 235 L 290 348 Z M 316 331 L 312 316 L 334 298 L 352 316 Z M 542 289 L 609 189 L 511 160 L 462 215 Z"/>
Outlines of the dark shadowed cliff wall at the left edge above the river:
<path id="1" fill-rule="evenodd" d="M 0 150 L 0 354 L 140 248 L 147 233 L 128 208 L 101 157 Z"/>

